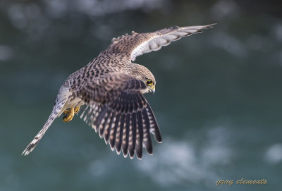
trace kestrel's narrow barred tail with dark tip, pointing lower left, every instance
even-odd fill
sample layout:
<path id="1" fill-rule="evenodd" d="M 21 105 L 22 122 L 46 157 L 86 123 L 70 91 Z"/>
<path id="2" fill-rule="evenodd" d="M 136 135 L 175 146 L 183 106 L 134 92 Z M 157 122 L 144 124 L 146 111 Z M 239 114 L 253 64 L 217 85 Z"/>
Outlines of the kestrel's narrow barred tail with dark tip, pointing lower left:
<path id="1" fill-rule="evenodd" d="M 40 130 L 39 133 L 37 133 L 37 135 L 33 138 L 32 142 L 30 142 L 30 144 L 27 145 L 22 155 L 26 156 L 27 154 L 30 154 L 30 152 L 32 152 L 33 149 L 35 149 L 37 143 L 39 142 L 39 140 L 42 139 L 43 135 L 46 133 L 48 128 L 51 126 L 55 118 L 61 115 L 62 113 L 61 110 L 63 109 L 63 106 L 65 104 L 66 104 L 66 99 L 62 99 L 61 101 L 59 101 L 58 103 L 54 105 L 53 111 L 51 112 L 51 115 L 49 116 L 48 120 L 44 124 L 42 130 Z"/>

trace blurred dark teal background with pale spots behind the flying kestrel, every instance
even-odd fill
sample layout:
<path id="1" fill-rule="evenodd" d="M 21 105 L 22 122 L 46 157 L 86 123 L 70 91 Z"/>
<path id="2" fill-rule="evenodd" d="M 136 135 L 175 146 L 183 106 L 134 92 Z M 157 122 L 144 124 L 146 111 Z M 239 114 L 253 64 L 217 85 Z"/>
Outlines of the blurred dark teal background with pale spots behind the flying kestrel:
<path id="1" fill-rule="evenodd" d="M 213 0 L 0 1 L 0 190 L 278 190 L 282 178 L 282 3 Z M 35 151 L 68 75 L 112 37 L 218 23 L 140 56 L 163 143 L 142 161 L 111 152 L 76 117 Z M 268 181 L 219 185 L 217 180 Z"/>

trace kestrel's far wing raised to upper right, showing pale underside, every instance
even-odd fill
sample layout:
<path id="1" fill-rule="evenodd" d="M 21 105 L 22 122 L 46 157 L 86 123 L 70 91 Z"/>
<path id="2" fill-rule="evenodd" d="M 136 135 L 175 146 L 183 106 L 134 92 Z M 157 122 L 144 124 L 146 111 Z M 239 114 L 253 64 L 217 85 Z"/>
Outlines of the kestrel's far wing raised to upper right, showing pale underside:
<path id="1" fill-rule="evenodd" d="M 169 27 L 156 32 L 137 33 L 124 35 L 117 39 L 112 39 L 112 44 L 106 50 L 108 54 L 120 54 L 125 56 L 129 61 L 135 61 L 140 56 L 151 51 L 158 51 L 161 47 L 171 44 L 182 37 L 200 33 L 203 29 L 214 27 L 216 24 L 199 25 L 190 27 Z"/>

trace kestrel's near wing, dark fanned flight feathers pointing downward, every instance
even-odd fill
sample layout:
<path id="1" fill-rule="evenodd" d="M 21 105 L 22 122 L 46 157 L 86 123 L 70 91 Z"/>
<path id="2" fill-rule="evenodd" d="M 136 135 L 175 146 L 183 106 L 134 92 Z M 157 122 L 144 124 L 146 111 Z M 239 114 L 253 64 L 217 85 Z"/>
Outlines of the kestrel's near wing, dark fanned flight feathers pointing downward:
<path id="1" fill-rule="evenodd" d="M 111 149 L 119 154 L 142 158 L 142 147 L 152 154 L 152 140 L 161 142 L 161 133 L 154 113 L 140 90 L 144 82 L 123 73 L 111 73 L 92 80 L 77 90 L 87 105 L 80 118 L 104 137 Z"/>

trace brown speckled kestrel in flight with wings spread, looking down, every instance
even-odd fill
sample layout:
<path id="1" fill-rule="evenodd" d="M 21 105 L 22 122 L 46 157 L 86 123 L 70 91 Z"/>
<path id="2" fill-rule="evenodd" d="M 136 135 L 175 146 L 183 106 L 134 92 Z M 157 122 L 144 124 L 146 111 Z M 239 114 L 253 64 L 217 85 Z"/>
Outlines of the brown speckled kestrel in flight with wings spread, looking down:
<path id="1" fill-rule="evenodd" d="M 51 123 L 63 113 L 69 122 L 80 106 L 86 105 L 80 118 L 99 131 L 106 144 L 123 156 L 142 158 L 142 147 L 152 154 L 151 135 L 161 142 L 161 133 L 154 113 L 145 99 L 154 94 L 156 80 L 145 67 L 133 63 L 137 56 L 157 51 L 173 41 L 188 37 L 215 24 L 169 27 L 156 32 L 123 35 L 112 39 L 111 45 L 87 66 L 71 74 L 56 97 L 53 111 L 42 130 L 27 145 L 23 155 L 30 154 Z"/>

